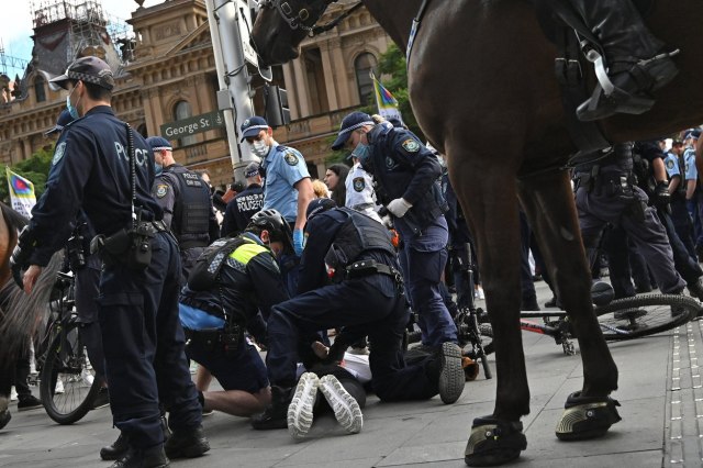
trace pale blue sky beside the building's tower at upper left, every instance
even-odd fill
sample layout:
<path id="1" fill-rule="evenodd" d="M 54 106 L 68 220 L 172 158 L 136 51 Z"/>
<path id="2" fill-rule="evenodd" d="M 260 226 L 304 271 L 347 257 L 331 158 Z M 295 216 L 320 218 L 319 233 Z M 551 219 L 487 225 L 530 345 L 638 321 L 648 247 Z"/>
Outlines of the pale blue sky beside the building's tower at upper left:
<path id="1" fill-rule="evenodd" d="M 0 3 L 7 7 L 4 3 L 11 0 L 2 0 Z M 44 2 L 60 1 L 60 0 L 43 0 Z M 110 15 L 116 16 L 122 20 L 131 18 L 132 11 L 136 10 L 138 5 L 134 1 L 130 0 L 97 0 L 102 3 L 102 11 Z M 35 4 L 40 4 L 41 1 L 35 1 Z M 161 0 L 146 0 L 144 7 L 153 7 L 161 3 Z M 32 16 L 30 14 L 29 1 L 13 1 L 13 11 L 5 10 L 3 14 L 0 14 L 0 40 L 4 46 L 5 55 L 18 57 L 24 60 L 32 58 Z M 1 67 L 0 67 L 1 68 Z M 1 70 L 0 70 L 1 71 Z M 14 75 L 22 76 L 23 69 L 8 67 L 8 75 L 10 78 L 14 78 Z"/>

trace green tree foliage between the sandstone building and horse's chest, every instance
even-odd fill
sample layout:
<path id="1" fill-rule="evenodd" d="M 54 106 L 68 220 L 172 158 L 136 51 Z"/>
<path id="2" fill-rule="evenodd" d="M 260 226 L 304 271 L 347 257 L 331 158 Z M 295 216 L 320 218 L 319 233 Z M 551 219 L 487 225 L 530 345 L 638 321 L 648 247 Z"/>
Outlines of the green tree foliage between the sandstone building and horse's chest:
<path id="1" fill-rule="evenodd" d="M 388 47 L 388 51 L 379 57 L 378 73 L 379 75 L 390 77 L 381 80 L 381 83 L 398 100 L 398 109 L 403 116 L 405 125 L 408 125 L 415 135 L 420 136 L 421 140 L 425 141 L 425 135 L 420 130 L 413 109 L 410 105 L 405 54 L 403 54 L 395 44 L 391 44 L 391 46 Z"/>

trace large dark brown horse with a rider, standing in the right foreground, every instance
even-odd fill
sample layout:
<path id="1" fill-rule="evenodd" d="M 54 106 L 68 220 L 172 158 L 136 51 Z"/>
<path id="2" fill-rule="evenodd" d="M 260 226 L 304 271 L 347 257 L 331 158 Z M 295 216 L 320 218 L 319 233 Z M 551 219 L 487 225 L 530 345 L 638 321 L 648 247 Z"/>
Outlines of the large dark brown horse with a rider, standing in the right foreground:
<path id="1" fill-rule="evenodd" d="M 422 0 L 362 2 L 404 51 Z M 298 45 L 308 33 L 294 27 L 295 22 L 314 24 L 333 0 L 289 0 L 288 9 L 278 0 L 261 3 L 253 40 L 266 63 L 278 64 L 298 56 Z M 703 93 L 696 91 L 703 79 L 702 13 L 700 0 L 657 2 L 649 26 L 681 49 L 680 75 L 658 93 L 651 111 L 604 121 L 612 142 L 656 137 L 703 122 Z M 556 55 L 526 0 L 435 0 L 428 2 L 409 59 L 417 122 L 447 156 L 451 183 L 477 235 L 495 333 L 498 392 L 490 419 L 501 422 L 503 436 L 481 444 L 486 439 L 476 427 L 466 454 L 471 465 L 500 464 L 524 448 L 516 436 L 505 435 L 518 432 L 516 423 L 529 412 L 518 325 L 516 198 L 536 231 L 576 328 L 583 360 L 581 397 L 606 402 L 617 388 L 617 368 L 592 311 L 573 193 L 566 170 L 558 169 L 576 148 L 565 126 L 554 74 Z M 574 438 L 593 435 L 577 433 Z"/>

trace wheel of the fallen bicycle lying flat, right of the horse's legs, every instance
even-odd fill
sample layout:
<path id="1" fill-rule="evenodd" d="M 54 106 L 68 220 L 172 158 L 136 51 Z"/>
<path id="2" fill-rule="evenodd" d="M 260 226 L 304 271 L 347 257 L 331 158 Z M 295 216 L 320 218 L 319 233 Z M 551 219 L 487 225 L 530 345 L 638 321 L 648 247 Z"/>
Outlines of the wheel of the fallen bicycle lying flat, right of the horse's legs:
<path id="1" fill-rule="evenodd" d="M 634 339 L 665 332 L 695 317 L 701 303 L 687 296 L 646 294 L 617 299 L 595 309 L 605 341 Z"/>

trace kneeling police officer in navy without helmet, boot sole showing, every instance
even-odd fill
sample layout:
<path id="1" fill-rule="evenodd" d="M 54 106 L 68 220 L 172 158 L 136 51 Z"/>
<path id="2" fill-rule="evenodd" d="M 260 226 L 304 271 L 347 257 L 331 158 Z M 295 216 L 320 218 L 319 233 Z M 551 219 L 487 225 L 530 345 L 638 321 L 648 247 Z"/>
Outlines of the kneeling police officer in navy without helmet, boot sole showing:
<path id="1" fill-rule="evenodd" d="M 368 335 L 371 386 L 381 400 L 439 393 L 454 403 L 464 390 L 461 349 L 454 343 L 444 343 L 419 365 L 405 365 L 402 338 L 410 316 L 388 230 L 358 211 L 333 207 L 328 199 L 310 203 L 299 296 L 271 310 L 266 364 L 272 401 L 252 420 L 255 428 L 286 427 L 299 339 L 337 326 L 345 328 L 344 339 L 333 345 L 335 355 Z M 327 268 L 334 270 L 332 283 Z"/>

